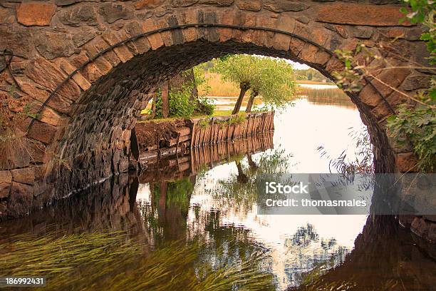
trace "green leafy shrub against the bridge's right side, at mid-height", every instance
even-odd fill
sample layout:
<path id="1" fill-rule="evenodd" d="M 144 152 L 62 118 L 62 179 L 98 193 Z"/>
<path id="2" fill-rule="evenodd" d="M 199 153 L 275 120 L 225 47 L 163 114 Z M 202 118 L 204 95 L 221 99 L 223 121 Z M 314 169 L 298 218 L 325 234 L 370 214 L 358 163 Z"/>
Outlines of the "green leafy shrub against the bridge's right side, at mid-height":
<path id="1" fill-rule="evenodd" d="M 436 111 L 432 108 L 401 107 L 397 116 L 388 118 L 390 133 L 400 145 L 412 142 L 413 151 L 423 172 L 432 173 L 436 166 Z"/>

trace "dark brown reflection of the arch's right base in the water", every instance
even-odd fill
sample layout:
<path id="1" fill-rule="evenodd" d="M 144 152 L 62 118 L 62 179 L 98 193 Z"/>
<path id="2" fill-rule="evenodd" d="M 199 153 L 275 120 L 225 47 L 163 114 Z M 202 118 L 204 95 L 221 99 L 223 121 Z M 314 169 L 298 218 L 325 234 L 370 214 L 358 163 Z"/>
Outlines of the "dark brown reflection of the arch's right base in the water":
<path id="1" fill-rule="evenodd" d="M 289 290 L 306 290 L 308 286 L 321 290 L 342 282 L 355 284 L 352 290 L 380 290 L 381 286 L 385 290 L 432 290 L 436 280 L 434 249 L 435 245 L 411 235 L 392 216 L 370 216 L 343 264 L 323 273 L 312 286 Z"/>

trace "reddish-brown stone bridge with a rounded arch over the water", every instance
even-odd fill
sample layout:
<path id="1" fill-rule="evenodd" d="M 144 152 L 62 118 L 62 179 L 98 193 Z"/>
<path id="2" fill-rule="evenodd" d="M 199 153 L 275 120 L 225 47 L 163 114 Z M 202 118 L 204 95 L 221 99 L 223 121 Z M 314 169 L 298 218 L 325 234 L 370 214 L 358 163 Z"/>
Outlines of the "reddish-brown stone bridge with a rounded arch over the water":
<path id="1" fill-rule="evenodd" d="M 1 0 L 1 108 L 15 133 L 2 141 L 0 216 L 124 172 L 147 92 L 227 53 L 288 58 L 333 78 L 343 68 L 334 50 L 363 43 L 377 51 L 396 39 L 384 56 L 403 68 L 378 78 L 413 94 L 429 75 L 404 67 L 425 62 L 426 49 L 420 27 L 399 24 L 398 2 Z M 391 144 L 385 131 L 386 118 L 410 103 L 393 88 L 368 80 L 348 94 L 369 128 L 378 172 L 415 165 L 410 148 Z"/>

